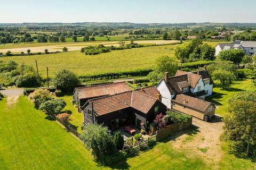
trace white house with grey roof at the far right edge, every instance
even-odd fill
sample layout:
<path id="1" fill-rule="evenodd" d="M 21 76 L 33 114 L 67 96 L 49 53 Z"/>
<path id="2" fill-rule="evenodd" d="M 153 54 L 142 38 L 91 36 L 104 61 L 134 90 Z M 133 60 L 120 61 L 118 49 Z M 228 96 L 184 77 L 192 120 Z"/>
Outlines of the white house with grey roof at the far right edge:
<path id="1" fill-rule="evenodd" d="M 256 41 L 235 40 L 233 43 L 219 43 L 215 47 L 215 55 L 227 49 L 242 49 L 246 55 L 256 55 Z"/>

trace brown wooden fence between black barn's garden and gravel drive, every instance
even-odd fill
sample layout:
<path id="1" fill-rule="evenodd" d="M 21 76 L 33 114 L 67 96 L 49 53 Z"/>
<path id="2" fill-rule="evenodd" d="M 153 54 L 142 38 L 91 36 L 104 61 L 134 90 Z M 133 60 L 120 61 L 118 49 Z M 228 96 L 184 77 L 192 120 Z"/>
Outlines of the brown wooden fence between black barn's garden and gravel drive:
<path id="1" fill-rule="evenodd" d="M 175 123 L 172 125 L 167 126 L 166 128 L 160 129 L 156 131 L 156 140 L 161 140 L 175 132 L 179 132 L 182 129 L 188 128 L 192 125 L 192 117 L 187 121 L 183 123 Z"/>

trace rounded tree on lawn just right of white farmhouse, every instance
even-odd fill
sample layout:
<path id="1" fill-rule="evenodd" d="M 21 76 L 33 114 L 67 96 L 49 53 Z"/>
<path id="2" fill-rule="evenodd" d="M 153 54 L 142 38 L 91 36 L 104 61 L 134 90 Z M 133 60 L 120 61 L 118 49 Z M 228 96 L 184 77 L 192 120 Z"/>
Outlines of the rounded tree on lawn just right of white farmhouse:
<path id="1" fill-rule="evenodd" d="M 229 87 L 232 82 L 235 80 L 235 75 L 229 71 L 226 70 L 215 70 L 212 73 L 212 79 L 213 80 L 219 80 L 220 85 L 222 88 L 227 88 Z"/>

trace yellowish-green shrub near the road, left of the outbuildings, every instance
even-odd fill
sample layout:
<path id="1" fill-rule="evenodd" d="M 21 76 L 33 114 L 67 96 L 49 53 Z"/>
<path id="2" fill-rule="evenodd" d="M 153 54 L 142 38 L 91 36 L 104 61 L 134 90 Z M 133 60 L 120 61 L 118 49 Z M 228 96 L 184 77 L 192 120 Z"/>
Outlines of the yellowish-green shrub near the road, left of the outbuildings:
<path id="1" fill-rule="evenodd" d="M 45 103 L 45 101 L 51 100 L 53 97 L 48 90 L 36 89 L 28 98 L 33 101 L 35 107 L 38 108 L 41 104 Z"/>

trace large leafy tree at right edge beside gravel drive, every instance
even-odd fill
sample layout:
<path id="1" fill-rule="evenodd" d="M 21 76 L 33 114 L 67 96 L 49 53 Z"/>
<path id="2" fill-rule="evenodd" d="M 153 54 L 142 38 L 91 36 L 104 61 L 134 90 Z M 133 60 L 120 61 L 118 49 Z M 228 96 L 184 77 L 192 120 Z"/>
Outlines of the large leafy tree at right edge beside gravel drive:
<path id="1" fill-rule="evenodd" d="M 238 92 L 228 106 L 230 114 L 223 118 L 222 139 L 235 142 L 236 156 L 255 159 L 256 91 Z"/>

